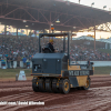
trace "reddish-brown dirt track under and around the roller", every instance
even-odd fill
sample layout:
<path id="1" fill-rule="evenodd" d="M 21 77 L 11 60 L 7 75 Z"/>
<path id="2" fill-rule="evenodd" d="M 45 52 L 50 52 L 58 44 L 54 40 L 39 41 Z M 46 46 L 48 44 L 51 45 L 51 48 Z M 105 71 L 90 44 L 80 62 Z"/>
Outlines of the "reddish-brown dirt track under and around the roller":
<path id="1" fill-rule="evenodd" d="M 0 81 L 1 101 L 7 104 L 0 104 L 0 111 L 111 111 L 111 77 L 91 77 L 89 90 L 71 89 L 68 94 L 33 92 L 31 80 Z M 44 105 L 18 104 L 18 101 L 40 101 Z"/>

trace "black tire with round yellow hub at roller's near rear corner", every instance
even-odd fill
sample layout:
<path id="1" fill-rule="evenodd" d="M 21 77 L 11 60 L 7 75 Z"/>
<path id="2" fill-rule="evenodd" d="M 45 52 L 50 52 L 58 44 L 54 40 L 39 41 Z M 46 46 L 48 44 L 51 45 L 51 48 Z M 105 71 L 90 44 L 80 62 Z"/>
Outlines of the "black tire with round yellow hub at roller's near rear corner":
<path id="1" fill-rule="evenodd" d="M 60 80 L 59 90 L 62 93 L 69 93 L 70 91 L 70 81 L 68 79 Z"/>

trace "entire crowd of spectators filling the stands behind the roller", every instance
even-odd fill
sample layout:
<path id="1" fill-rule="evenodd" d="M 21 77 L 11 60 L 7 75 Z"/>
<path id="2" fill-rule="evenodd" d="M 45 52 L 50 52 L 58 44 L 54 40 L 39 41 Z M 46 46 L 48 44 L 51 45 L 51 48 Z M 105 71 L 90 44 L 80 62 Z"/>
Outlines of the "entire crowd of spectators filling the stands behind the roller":
<path id="1" fill-rule="evenodd" d="M 49 39 L 43 38 L 41 40 L 42 47 L 48 43 Z M 63 41 L 61 39 L 54 40 L 54 48 L 59 51 L 63 49 Z M 7 63 L 17 61 L 17 65 L 20 67 L 20 61 L 30 61 L 32 57 L 39 51 L 38 38 L 28 37 L 0 37 L 0 56 L 1 60 L 6 60 Z M 65 44 L 67 48 L 67 44 Z M 89 48 L 83 44 L 75 44 L 71 42 L 70 47 L 71 60 L 88 61 L 88 60 L 111 60 L 110 53 L 100 52 L 98 49 L 93 52 L 93 48 Z"/>

